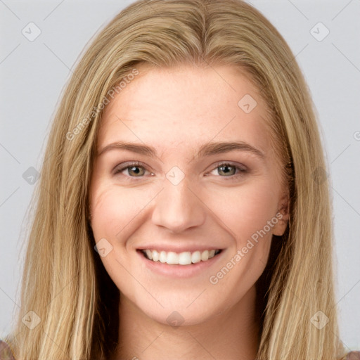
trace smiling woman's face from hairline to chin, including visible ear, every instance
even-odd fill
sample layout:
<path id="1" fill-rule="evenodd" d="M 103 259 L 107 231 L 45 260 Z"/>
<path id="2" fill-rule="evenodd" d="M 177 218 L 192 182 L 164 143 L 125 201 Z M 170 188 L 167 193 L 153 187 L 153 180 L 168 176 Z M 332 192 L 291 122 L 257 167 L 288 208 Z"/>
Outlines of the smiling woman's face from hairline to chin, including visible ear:
<path id="1" fill-rule="evenodd" d="M 103 114 L 91 227 L 124 299 L 201 323 L 254 289 L 285 231 L 266 104 L 229 65 L 138 70 Z"/>

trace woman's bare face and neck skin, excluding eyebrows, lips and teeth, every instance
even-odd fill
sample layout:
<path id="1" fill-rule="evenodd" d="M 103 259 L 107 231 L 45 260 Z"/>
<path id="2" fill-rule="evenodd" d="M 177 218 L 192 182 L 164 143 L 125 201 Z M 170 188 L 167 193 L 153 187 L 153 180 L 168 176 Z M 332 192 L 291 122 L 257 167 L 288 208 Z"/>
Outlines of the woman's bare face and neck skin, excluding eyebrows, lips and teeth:
<path id="1" fill-rule="evenodd" d="M 90 187 L 94 237 L 113 247 L 101 260 L 121 292 L 119 349 L 113 359 L 254 359 L 259 346 L 255 282 L 272 235 L 282 235 L 288 221 L 288 189 L 269 141 L 266 103 L 230 65 L 136 68 L 140 74 L 103 114 Z M 238 106 L 245 94 L 257 101 L 250 113 Z M 101 153 L 116 141 L 153 146 L 157 155 L 121 148 Z M 246 150 L 196 158 L 210 141 L 243 141 L 264 158 Z M 141 164 L 115 174 L 129 161 Z M 224 162 L 247 172 L 232 166 L 226 172 L 219 167 Z M 184 174 L 176 185 L 167 179 L 174 166 Z M 279 212 L 282 219 L 211 283 L 210 276 Z M 207 244 L 222 252 L 195 276 L 164 276 L 136 252 L 149 242 Z M 169 316 L 181 325 L 172 326 Z"/>

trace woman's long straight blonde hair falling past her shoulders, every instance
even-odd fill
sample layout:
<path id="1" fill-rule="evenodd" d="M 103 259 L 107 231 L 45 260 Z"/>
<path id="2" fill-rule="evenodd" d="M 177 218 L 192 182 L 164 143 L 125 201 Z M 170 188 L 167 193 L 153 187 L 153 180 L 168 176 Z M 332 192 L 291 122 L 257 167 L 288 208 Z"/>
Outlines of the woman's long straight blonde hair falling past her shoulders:
<path id="1" fill-rule="evenodd" d="M 293 53 L 275 27 L 243 1 L 141 0 L 88 46 L 53 120 L 27 245 L 21 309 L 6 338 L 15 358 L 105 359 L 116 345 L 119 291 L 94 251 L 88 186 L 110 91 L 120 91 L 120 81 L 141 63 L 235 65 L 259 87 L 291 203 L 288 229 L 274 237 L 268 269 L 257 284 L 262 312 L 257 360 L 344 356 L 333 290 L 326 163 L 314 105 Z M 40 320 L 32 330 L 22 320 L 29 311 Z M 314 316 L 316 321 L 326 316 L 328 323 L 319 328 Z"/>

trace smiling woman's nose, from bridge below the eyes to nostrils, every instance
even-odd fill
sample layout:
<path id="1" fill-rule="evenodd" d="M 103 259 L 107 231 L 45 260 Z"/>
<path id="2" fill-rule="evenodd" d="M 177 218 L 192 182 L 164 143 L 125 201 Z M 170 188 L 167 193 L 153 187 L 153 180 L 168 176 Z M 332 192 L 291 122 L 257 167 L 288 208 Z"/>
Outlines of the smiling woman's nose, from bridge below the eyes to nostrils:
<path id="1" fill-rule="evenodd" d="M 180 233 L 205 222 L 206 206 L 185 179 L 177 185 L 167 181 L 154 200 L 153 224 L 165 227 L 172 233 Z"/>

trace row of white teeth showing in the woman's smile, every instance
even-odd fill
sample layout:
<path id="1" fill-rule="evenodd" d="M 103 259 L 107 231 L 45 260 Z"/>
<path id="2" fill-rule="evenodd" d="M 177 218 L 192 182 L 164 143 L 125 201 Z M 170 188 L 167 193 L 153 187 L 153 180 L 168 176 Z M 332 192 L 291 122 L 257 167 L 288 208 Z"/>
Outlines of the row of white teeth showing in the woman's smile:
<path id="1" fill-rule="evenodd" d="M 203 261 L 206 262 L 208 259 L 211 259 L 215 255 L 219 254 L 220 250 L 204 250 L 204 251 L 185 251 L 185 252 L 173 252 L 173 251 L 156 251 L 156 250 L 142 250 L 149 260 L 153 262 L 165 262 L 169 265 L 180 264 L 180 265 L 190 265 L 196 264 L 197 262 Z"/>

